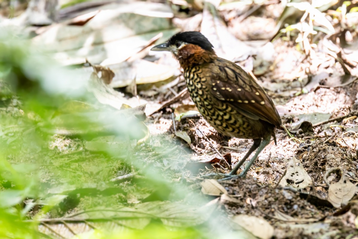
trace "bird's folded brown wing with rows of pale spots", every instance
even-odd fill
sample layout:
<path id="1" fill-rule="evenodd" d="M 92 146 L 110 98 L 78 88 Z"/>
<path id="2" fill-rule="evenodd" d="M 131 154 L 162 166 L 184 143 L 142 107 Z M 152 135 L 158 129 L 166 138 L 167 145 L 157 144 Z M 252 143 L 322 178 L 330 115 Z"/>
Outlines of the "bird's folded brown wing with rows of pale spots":
<path id="1" fill-rule="evenodd" d="M 225 59 L 214 62 L 212 93 L 252 119 L 262 119 L 280 127 L 281 118 L 265 90 L 241 67 Z"/>

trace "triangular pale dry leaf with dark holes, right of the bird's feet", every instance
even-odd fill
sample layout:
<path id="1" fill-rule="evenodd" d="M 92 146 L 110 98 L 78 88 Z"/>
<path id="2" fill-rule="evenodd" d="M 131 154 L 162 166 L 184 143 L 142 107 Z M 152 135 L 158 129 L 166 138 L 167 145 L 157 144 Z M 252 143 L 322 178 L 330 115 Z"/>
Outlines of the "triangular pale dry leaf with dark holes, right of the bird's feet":
<path id="1" fill-rule="evenodd" d="M 280 186 L 292 186 L 303 189 L 312 184 L 312 179 L 297 158 L 292 157 L 287 166 L 287 172 L 280 181 Z"/>

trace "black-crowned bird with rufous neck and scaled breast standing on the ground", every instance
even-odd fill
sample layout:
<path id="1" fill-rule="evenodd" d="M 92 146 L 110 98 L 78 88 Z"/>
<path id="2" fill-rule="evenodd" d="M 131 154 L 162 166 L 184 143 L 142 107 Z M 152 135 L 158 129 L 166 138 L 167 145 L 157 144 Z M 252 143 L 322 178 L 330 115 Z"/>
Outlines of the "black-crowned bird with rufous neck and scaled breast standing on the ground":
<path id="1" fill-rule="evenodd" d="M 199 31 L 176 33 L 152 51 L 173 53 L 183 68 L 190 97 L 204 119 L 222 135 L 252 139 L 253 145 L 241 161 L 225 174 L 227 179 L 246 177 L 257 156 L 282 122 L 270 96 L 239 65 L 220 58 Z M 245 169 L 238 169 L 257 149 Z"/>

